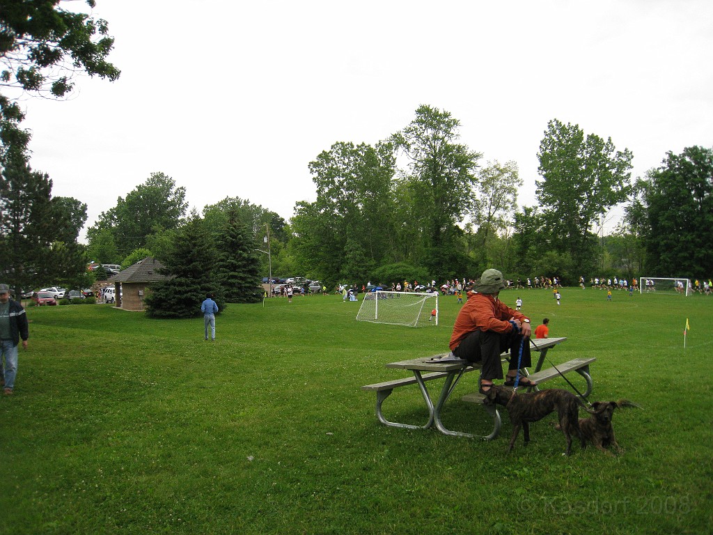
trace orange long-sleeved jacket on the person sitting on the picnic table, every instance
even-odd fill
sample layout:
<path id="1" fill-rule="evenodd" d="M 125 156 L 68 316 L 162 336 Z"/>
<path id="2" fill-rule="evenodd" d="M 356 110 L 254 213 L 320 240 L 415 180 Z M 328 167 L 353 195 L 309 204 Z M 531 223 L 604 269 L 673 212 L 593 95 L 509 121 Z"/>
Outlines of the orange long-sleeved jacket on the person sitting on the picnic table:
<path id="1" fill-rule="evenodd" d="M 461 311 L 456 317 L 456 324 L 453 325 L 453 335 L 451 335 L 448 347 L 453 351 L 463 338 L 476 330 L 511 332 L 513 330 L 513 325 L 509 321 L 511 317 L 520 321 L 528 319 L 527 316 L 509 308 L 492 295 L 469 293 L 466 304 L 461 307 Z"/>

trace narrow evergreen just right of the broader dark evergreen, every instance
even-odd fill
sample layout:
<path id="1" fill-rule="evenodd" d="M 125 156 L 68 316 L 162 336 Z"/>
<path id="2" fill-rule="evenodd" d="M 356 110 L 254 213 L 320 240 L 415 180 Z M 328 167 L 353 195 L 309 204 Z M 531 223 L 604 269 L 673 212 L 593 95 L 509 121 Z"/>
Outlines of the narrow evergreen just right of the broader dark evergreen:
<path id="1" fill-rule="evenodd" d="M 260 259 L 245 223 L 237 210 L 231 208 L 227 220 L 217 235 L 217 263 L 215 279 L 230 302 L 258 302 L 260 287 Z"/>

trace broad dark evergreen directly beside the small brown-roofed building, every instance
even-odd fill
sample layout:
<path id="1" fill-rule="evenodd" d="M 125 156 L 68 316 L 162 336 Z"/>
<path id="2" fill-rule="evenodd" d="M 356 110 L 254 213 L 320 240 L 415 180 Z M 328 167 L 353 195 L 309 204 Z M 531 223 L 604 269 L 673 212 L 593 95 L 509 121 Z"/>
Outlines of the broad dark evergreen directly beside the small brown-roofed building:
<path id="1" fill-rule="evenodd" d="M 219 312 L 225 308 L 220 286 L 213 278 L 215 249 L 203 221 L 193 217 L 175 233 L 173 248 L 163 258 L 163 275 L 168 279 L 150 285 L 146 297 L 146 315 L 149 317 L 198 317 L 200 304 L 206 295 L 213 299 Z"/>

